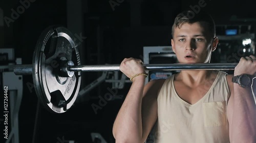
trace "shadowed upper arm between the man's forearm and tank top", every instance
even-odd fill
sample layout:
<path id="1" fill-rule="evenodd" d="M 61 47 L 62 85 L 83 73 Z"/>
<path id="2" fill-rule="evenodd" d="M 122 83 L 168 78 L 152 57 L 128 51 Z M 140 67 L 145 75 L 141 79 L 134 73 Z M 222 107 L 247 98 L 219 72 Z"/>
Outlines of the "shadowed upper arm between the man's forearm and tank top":
<path id="1" fill-rule="evenodd" d="M 157 96 L 163 82 L 162 79 L 151 81 L 144 88 L 141 108 L 143 141 L 146 140 L 157 121 Z"/>

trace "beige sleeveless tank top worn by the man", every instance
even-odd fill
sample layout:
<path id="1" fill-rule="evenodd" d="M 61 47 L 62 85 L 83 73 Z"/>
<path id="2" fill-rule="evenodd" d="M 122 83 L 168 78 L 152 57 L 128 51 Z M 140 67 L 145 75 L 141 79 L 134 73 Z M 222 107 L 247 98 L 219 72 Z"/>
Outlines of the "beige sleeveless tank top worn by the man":
<path id="1" fill-rule="evenodd" d="M 174 75 L 168 77 L 158 95 L 155 143 L 228 143 L 227 73 L 219 71 L 208 92 L 191 105 L 174 88 Z M 208 82 L 208 83 L 209 83 Z M 205 83 L 205 86 L 207 83 Z M 210 85 L 209 85 L 210 86 Z M 200 94 L 202 89 L 198 89 Z"/>

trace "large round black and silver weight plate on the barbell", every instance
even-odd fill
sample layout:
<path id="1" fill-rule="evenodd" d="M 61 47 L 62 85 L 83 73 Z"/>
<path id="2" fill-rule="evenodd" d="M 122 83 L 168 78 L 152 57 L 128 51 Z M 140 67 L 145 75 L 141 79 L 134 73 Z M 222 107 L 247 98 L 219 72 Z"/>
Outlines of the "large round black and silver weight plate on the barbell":
<path id="1" fill-rule="evenodd" d="M 81 83 L 80 72 L 61 77 L 61 61 L 80 65 L 77 44 L 65 27 L 50 26 L 41 33 L 33 55 L 33 81 L 41 104 L 52 112 L 66 112 L 75 102 Z"/>

